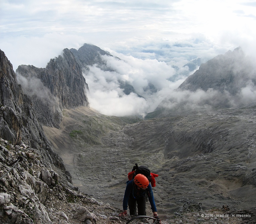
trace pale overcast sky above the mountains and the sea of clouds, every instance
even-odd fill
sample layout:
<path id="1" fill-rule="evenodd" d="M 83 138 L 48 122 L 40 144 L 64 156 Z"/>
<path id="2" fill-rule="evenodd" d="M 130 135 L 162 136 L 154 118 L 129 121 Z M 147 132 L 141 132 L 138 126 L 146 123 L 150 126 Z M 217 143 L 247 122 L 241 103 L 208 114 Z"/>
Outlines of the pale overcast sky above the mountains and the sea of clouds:
<path id="1" fill-rule="evenodd" d="M 203 34 L 233 50 L 254 42 L 255 27 L 252 0 L 0 1 L 0 48 L 14 69 L 45 67 L 62 49 L 83 43 L 128 53 L 157 40 Z"/>

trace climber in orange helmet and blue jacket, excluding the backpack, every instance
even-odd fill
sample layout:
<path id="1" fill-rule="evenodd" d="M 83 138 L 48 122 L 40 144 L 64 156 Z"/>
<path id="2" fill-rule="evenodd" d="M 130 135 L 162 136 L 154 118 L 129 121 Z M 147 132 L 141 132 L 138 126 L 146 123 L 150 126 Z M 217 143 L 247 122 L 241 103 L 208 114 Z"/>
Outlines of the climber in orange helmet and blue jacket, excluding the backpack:
<path id="1" fill-rule="evenodd" d="M 123 199 L 123 212 L 119 216 L 127 216 L 127 207 L 129 206 L 130 215 L 136 214 L 136 205 L 138 207 L 138 215 L 146 215 L 146 197 L 148 196 L 153 217 L 159 220 L 157 208 L 154 201 L 154 195 L 149 184 L 149 180 L 143 174 L 137 174 L 134 179 L 130 180 L 125 189 Z M 128 205 L 128 206 L 127 206 Z"/>

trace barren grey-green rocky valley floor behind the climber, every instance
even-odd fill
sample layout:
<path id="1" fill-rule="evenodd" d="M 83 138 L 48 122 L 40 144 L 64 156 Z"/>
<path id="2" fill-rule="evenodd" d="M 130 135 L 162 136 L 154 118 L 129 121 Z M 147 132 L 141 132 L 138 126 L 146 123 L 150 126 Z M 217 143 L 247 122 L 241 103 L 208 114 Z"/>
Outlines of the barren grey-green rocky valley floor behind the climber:
<path id="1" fill-rule="evenodd" d="M 79 107 L 44 131 L 73 185 L 120 209 L 128 172 L 147 165 L 159 174 L 154 196 L 168 219 L 188 201 L 255 211 L 255 121 L 253 104 L 146 120 Z"/>

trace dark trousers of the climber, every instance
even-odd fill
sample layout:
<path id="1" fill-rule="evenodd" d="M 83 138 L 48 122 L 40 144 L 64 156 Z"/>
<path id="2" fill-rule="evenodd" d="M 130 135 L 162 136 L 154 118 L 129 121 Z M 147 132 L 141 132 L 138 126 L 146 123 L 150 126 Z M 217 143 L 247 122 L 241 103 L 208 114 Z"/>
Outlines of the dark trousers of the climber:
<path id="1" fill-rule="evenodd" d="M 130 215 L 136 214 L 136 207 L 138 206 L 138 215 L 146 215 L 146 196 L 134 198 L 130 195 L 128 200 L 128 206 L 130 210 Z"/>

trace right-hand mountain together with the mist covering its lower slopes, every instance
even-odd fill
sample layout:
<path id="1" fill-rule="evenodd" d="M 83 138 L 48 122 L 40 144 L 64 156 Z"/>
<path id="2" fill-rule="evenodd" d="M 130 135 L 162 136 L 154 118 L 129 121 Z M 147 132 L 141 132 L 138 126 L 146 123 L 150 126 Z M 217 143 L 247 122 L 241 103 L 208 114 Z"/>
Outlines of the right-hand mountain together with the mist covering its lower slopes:
<path id="1" fill-rule="evenodd" d="M 230 108 L 255 101 L 255 90 L 256 67 L 241 47 L 237 47 L 200 65 L 146 118 L 199 108 Z"/>

